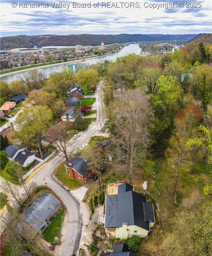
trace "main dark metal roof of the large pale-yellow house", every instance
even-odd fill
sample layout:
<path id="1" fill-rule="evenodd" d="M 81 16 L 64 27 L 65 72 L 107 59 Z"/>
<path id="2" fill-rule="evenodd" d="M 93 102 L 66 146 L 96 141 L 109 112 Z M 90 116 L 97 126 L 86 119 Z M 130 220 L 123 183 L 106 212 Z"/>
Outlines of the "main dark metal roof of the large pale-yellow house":
<path id="1" fill-rule="evenodd" d="M 143 202 L 147 203 L 147 198 L 132 190 L 118 195 L 107 195 L 105 227 L 122 227 L 127 222 L 128 226 L 136 225 L 150 231 L 150 224 L 144 218 Z"/>

